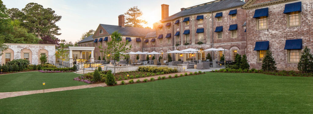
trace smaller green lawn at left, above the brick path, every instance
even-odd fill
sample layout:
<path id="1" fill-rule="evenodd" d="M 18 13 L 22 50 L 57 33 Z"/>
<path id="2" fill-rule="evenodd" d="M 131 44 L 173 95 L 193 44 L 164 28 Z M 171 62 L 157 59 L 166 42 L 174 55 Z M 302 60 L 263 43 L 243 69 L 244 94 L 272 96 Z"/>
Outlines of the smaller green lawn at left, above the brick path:
<path id="1" fill-rule="evenodd" d="M 86 85 L 84 82 L 73 80 L 79 75 L 73 72 L 41 73 L 37 71 L 0 75 L 0 92 L 41 90 L 43 82 L 46 83 L 45 89 Z"/>

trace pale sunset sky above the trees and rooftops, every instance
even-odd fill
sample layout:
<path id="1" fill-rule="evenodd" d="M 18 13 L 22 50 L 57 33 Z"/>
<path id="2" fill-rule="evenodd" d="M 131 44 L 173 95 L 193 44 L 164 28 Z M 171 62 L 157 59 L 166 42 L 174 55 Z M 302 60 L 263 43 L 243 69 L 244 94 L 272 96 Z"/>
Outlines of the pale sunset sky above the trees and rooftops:
<path id="1" fill-rule="evenodd" d="M 2 0 L 7 8 L 25 8 L 28 3 L 38 3 L 44 8 L 52 8 L 62 16 L 56 23 L 61 30 L 59 39 L 76 42 L 90 29 L 97 29 L 99 24 L 118 25 L 118 15 L 129 8 L 138 6 L 142 18 L 152 28 L 152 24 L 161 20 L 161 4 L 169 5 L 169 16 L 188 8 L 213 0 Z"/>

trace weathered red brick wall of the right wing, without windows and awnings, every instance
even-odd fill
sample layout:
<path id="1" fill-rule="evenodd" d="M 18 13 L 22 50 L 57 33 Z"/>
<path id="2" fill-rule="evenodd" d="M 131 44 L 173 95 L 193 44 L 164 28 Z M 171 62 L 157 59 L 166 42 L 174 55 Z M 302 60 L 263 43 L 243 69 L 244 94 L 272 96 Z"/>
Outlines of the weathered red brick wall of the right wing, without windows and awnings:
<path id="1" fill-rule="evenodd" d="M 262 63 L 257 63 L 257 51 L 254 51 L 255 42 L 269 41 L 269 50 L 273 52 L 273 57 L 277 63 L 278 70 L 298 70 L 296 63 L 287 63 L 286 39 L 302 39 L 303 47 L 312 49 L 312 19 L 313 1 L 301 0 L 302 12 L 300 13 L 301 25 L 287 27 L 287 14 L 284 14 L 285 4 L 271 5 L 269 8 L 268 29 L 256 30 L 256 19 L 253 18 L 255 9 L 247 10 L 247 58 L 250 68 L 260 69 Z M 299 1 L 295 1 L 299 2 Z M 289 2 L 294 3 L 294 2 Z"/>

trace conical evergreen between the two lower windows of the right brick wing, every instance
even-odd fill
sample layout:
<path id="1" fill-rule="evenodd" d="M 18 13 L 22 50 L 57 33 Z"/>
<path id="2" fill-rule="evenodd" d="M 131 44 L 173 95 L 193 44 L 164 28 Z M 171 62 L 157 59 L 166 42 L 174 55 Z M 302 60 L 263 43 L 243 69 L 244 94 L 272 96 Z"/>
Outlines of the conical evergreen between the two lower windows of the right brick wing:
<path id="1" fill-rule="evenodd" d="M 276 62 L 272 56 L 272 51 L 267 50 L 266 55 L 263 58 L 262 70 L 264 71 L 275 71 L 277 69 Z"/>

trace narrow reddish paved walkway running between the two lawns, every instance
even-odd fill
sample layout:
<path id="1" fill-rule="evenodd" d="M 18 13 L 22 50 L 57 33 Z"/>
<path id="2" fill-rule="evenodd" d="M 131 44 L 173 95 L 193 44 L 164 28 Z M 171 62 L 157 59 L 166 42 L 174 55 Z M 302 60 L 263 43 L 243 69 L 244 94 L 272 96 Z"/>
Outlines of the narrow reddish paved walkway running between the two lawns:
<path id="1" fill-rule="evenodd" d="M 187 72 L 189 74 L 189 72 Z M 134 82 L 136 80 L 143 81 L 144 79 L 150 80 L 150 78 L 154 78 L 157 80 L 159 76 L 166 76 L 168 77 L 171 75 L 172 77 L 175 76 L 175 74 L 180 75 L 184 74 L 184 72 L 178 72 L 178 73 L 171 73 L 171 74 L 164 74 L 164 75 L 155 75 L 150 77 L 143 77 L 143 78 L 136 78 L 133 79 Z M 124 80 L 125 83 L 128 83 L 127 80 Z M 121 81 L 117 81 L 117 84 L 121 84 Z M 45 89 L 45 90 L 33 90 L 33 91 L 16 91 L 16 92 L 0 92 L 0 99 L 8 98 L 8 97 L 15 97 L 15 96 L 24 96 L 24 95 L 31 95 L 31 94 L 37 94 L 37 93 L 48 93 L 48 92 L 55 92 L 55 91 L 66 91 L 66 90 L 77 90 L 77 89 L 85 89 L 85 88 L 93 88 L 93 87 L 106 87 L 107 85 L 105 83 L 100 84 L 90 84 L 90 85 L 79 85 L 79 86 L 71 86 L 71 87 L 60 87 L 60 88 L 52 88 L 52 89 Z"/>

